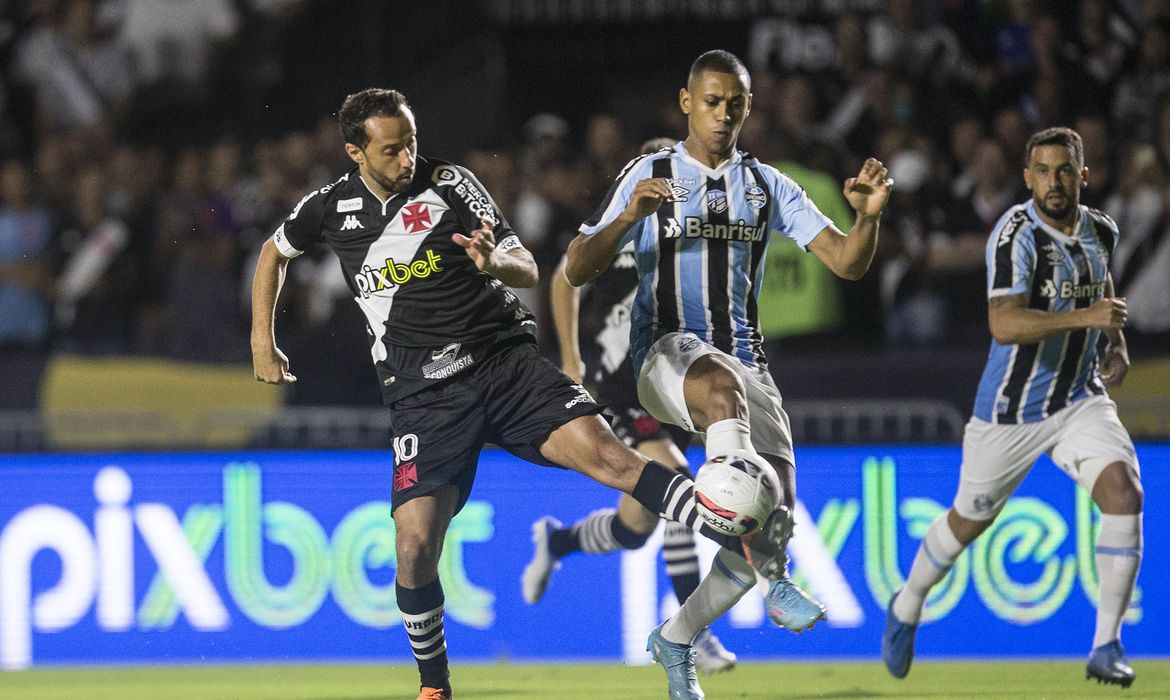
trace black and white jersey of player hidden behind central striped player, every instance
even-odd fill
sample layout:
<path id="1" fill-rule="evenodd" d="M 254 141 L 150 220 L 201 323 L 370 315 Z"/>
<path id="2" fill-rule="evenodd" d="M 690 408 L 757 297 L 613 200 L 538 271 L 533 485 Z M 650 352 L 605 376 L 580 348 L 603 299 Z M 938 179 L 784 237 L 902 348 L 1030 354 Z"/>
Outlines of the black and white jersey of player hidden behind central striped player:
<path id="1" fill-rule="evenodd" d="M 638 293 L 638 268 L 633 246 L 622 248 L 613 263 L 593 280 L 580 302 L 581 361 L 589 384 L 605 403 L 612 390 L 633 393 L 634 368 L 629 359 L 629 309 Z"/>

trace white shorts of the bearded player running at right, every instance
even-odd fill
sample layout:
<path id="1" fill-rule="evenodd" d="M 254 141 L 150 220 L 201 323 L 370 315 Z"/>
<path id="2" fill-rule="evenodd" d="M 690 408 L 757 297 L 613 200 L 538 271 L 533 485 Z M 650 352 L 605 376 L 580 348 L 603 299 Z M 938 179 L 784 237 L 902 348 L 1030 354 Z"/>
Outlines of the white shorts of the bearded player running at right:
<path id="1" fill-rule="evenodd" d="M 1106 396 L 1076 402 L 1037 423 L 997 425 L 972 418 L 963 433 L 955 510 L 968 520 L 994 517 L 1044 453 L 1090 493 L 1113 462 L 1133 465 L 1141 474 L 1117 404 Z"/>

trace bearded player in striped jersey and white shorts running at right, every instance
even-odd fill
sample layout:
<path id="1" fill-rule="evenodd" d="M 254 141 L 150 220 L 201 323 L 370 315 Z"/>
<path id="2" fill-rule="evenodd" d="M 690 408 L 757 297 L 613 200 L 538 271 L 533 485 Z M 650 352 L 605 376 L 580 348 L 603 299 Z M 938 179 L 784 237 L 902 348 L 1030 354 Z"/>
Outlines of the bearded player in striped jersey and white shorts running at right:
<path id="1" fill-rule="evenodd" d="M 1046 453 L 1101 509 L 1101 598 L 1086 678 L 1134 681 L 1121 623 L 1142 560 L 1143 493 L 1134 444 L 1106 393 L 1129 368 L 1126 301 L 1109 276 L 1117 225 L 1080 204 L 1083 152 L 1071 129 L 1034 133 L 1024 167 L 1032 199 L 1009 210 L 987 240 L 991 351 L 963 435 L 955 502 L 930 526 L 889 602 L 882 657 L 896 678 L 910 671 L 927 593 Z M 1102 334 L 1108 344 L 1099 351 Z"/>

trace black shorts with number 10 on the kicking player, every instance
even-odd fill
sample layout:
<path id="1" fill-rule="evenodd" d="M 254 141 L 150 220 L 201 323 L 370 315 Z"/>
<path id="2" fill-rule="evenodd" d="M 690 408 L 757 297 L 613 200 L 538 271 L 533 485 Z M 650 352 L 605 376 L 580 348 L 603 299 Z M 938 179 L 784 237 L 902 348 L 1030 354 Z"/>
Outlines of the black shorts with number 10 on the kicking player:
<path id="1" fill-rule="evenodd" d="M 455 512 L 467 503 L 480 451 L 488 442 L 557 467 L 541 445 L 562 425 L 601 406 L 531 343 L 508 344 L 448 382 L 390 406 L 394 434 L 391 507 L 452 485 Z"/>

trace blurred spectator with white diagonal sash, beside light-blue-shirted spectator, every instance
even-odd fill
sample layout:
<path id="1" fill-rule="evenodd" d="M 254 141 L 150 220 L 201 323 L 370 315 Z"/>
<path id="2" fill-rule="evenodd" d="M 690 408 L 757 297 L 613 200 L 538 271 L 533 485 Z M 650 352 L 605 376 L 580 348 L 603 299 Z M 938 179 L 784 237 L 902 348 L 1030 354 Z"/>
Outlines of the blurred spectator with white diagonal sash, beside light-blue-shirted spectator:
<path id="1" fill-rule="evenodd" d="M 106 206 L 97 165 L 77 176 L 69 222 L 57 248 L 62 267 L 54 316 L 57 348 L 69 352 L 128 352 L 133 339 L 142 260 L 130 228 Z"/>

